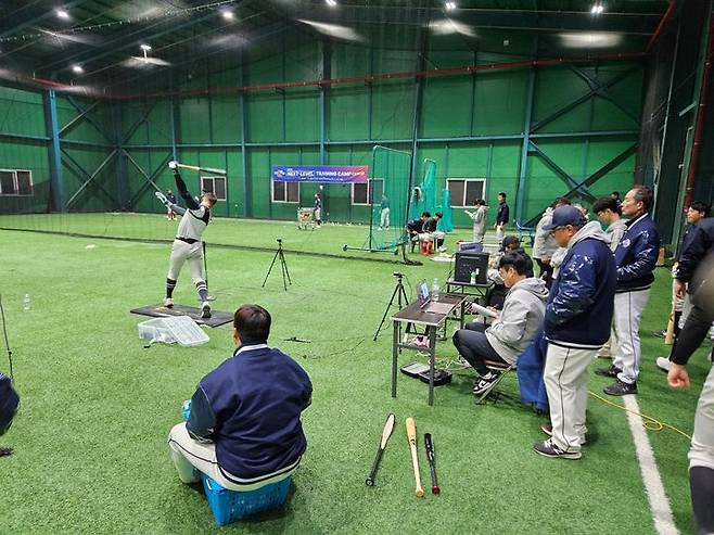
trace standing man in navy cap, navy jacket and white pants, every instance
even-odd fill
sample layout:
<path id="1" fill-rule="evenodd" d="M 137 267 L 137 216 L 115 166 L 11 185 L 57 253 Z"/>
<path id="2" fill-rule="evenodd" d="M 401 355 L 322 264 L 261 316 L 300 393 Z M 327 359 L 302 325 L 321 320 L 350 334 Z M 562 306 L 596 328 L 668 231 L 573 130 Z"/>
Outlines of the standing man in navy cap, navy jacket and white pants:
<path id="1" fill-rule="evenodd" d="M 557 208 L 550 225 L 568 247 L 546 305 L 548 341 L 544 380 L 550 405 L 551 437 L 534 444 L 543 456 L 579 459 L 585 442 L 588 365 L 610 337 L 615 262 L 607 234 L 574 206 Z"/>

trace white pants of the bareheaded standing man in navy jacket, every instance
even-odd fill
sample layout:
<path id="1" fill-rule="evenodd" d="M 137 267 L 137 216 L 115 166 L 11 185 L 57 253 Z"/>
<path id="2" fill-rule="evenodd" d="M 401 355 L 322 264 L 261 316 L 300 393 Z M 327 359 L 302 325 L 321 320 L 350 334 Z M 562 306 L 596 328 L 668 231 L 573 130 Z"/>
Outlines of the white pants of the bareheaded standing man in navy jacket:
<path id="1" fill-rule="evenodd" d="M 633 384 L 639 375 L 640 345 L 639 324 L 642 311 L 650 300 L 650 289 L 615 294 L 614 328 L 617 346 L 612 364 L 622 371 L 617 374 L 623 383 Z"/>

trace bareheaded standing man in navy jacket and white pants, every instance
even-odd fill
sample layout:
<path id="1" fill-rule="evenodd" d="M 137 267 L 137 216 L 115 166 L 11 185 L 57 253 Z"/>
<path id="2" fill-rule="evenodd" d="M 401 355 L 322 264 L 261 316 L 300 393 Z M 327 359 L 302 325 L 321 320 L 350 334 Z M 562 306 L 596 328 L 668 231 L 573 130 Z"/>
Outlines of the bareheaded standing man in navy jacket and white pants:
<path id="1" fill-rule="evenodd" d="M 654 266 L 660 252 L 660 232 L 649 216 L 652 192 L 635 186 L 625 195 L 622 213 L 628 217 L 627 230 L 615 250 L 617 288 L 615 290 L 615 335 L 617 347 L 609 368 L 598 375 L 616 378 L 603 392 L 611 396 L 637 394 L 639 375 L 639 324 L 650 298 Z"/>

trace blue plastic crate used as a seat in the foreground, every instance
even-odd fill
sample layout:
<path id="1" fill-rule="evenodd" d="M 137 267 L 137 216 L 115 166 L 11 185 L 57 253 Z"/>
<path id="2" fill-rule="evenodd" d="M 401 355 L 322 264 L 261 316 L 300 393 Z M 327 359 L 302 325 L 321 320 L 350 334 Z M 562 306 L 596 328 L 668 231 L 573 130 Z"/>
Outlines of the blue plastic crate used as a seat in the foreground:
<path id="1" fill-rule="evenodd" d="M 216 524 L 226 525 L 284 505 L 293 477 L 290 475 L 277 483 L 248 492 L 224 488 L 204 473 L 201 474 L 201 481 Z"/>

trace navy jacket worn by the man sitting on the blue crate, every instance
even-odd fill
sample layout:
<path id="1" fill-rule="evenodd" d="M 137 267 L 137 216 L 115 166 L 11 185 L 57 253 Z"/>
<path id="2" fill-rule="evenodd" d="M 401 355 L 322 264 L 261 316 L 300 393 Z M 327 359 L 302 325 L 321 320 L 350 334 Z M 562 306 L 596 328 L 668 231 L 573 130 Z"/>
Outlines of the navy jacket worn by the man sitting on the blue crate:
<path id="1" fill-rule="evenodd" d="M 201 380 L 187 429 L 215 443 L 229 481 L 255 482 L 299 462 L 307 447 L 301 412 L 311 399 L 313 384 L 297 362 L 264 343 L 244 344 Z"/>

